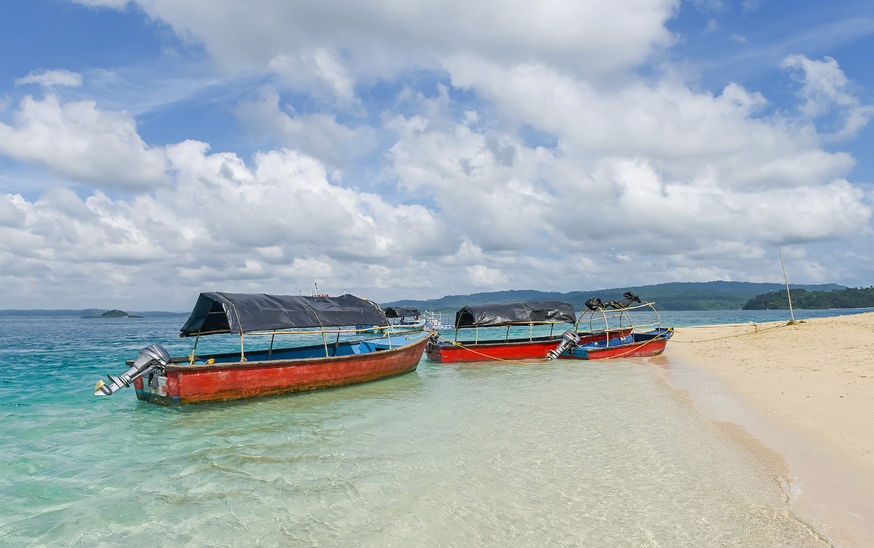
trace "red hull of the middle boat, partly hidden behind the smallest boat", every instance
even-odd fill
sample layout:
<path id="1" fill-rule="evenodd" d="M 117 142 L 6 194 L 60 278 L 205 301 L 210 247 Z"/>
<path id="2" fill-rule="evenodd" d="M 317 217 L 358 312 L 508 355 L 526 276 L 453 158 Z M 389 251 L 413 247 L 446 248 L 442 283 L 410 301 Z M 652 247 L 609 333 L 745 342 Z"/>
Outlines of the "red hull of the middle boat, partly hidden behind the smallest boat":
<path id="1" fill-rule="evenodd" d="M 611 331 L 610 335 L 618 337 L 629 333 L 631 328 Z M 579 335 L 581 344 L 603 341 L 607 338 L 604 332 L 581 332 Z M 447 342 L 431 343 L 425 348 L 425 355 L 430 361 L 440 363 L 546 358 L 546 353 L 555 349 L 560 342 L 561 335 L 534 341 L 463 343 L 463 346 Z"/>

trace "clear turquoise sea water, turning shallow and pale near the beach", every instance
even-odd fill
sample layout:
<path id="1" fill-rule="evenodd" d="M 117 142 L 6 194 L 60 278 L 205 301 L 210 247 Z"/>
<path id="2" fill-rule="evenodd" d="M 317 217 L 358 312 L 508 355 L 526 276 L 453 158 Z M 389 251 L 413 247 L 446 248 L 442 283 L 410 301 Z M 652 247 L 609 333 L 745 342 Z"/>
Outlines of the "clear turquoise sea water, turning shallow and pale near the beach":
<path id="1" fill-rule="evenodd" d="M 184 319 L 0 317 L 0 545 L 823 544 L 647 361 L 423 360 L 180 409 L 92 395 L 149 343 L 188 353 Z"/>

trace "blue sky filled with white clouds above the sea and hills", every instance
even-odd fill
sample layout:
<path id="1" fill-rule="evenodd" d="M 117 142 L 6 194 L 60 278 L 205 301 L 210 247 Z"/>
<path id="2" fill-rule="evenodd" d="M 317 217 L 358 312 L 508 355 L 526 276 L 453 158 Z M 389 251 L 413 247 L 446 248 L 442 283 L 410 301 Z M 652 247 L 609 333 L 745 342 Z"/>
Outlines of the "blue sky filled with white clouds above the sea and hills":
<path id="1" fill-rule="evenodd" d="M 0 309 L 874 285 L 874 3 L 13 0 Z"/>

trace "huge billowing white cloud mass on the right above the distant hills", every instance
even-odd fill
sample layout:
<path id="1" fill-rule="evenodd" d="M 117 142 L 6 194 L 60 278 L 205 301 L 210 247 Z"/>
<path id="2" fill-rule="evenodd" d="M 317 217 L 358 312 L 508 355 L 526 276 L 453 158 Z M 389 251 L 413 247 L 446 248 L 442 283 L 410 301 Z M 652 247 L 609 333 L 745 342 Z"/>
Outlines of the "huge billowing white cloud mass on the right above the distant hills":
<path id="1" fill-rule="evenodd" d="M 431 189 L 487 268 L 505 253 L 584 253 L 604 265 L 630 255 L 651 257 L 664 278 L 682 256 L 755 250 L 748 266 L 763 247 L 846 238 L 870 220 L 870 200 L 842 179 L 852 158 L 818 148 L 809 127 L 756 118 L 765 98 L 737 84 L 716 96 L 667 83 L 600 89 L 542 65 L 446 66 L 504 120 L 558 142 L 532 149 L 499 129 L 447 125 L 433 102 L 391 121 L 402 184 Z M 738 275 L 739 264 L 719 272 Z"/>

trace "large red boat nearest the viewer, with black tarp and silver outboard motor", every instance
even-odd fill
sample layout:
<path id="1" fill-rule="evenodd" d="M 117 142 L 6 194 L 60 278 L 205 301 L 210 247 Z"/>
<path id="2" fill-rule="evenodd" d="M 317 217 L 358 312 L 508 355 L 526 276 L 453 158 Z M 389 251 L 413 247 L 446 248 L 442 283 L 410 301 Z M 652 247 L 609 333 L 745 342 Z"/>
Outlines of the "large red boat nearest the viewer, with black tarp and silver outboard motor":
<path id="1" fill-rule="evenodd" d="M 340 341 L 349 325 L 386 326 L 374 303 L 352 295 L 303 297 L 201 293 L 180 337 L 216 333 L 240 335 L 240 352 L 171 358 L 151 345 L 124 374 L 97 384 L 95 395 L 134 385 L 137 398 L 160 405 L 184 405 L 345 386 L 416 369 L 430 333 Z M 280 331 L 318 327 L 319 331 Z M 328 331 L 326 327 L 337 327 Z M 327 334 L 336 333 L 334 342 Z M 271 335 L 267 350 L 245 352 L 243 335 Z M 323 344 L 273 348 L 277 334 L 321 335 Z"/>

